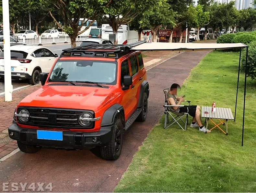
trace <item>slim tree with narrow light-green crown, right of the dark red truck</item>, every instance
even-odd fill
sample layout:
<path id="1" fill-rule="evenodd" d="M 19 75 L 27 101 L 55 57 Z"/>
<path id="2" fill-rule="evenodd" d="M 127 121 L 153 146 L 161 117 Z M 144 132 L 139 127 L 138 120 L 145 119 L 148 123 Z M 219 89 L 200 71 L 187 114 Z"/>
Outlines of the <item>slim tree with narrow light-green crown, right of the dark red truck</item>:
<path id="1" fill-rule="evenodd" d="M 196 24 L 197 27 L 197 41 L 200 41 L 199 30 L 205 23 L 208 23 L 210 20 L 210 13 L 208 11 L 204 12 L 204 5 L 196 5 Z"/>

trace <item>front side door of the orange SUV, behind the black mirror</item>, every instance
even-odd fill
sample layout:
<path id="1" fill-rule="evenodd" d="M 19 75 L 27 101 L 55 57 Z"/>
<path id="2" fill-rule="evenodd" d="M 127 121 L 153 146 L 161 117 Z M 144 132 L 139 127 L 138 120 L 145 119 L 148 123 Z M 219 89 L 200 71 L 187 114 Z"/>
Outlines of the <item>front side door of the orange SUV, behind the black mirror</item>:
<path id="1" fill-rule="evenodd" d="M 125 75 L 130 75 L 131 76 L 131 66 L 129 65 L 128 59 L 125 59 L 124 61 L 122 61 L 121 63 L 121 87 L 123 87 L 123 77 Z M 125 116 L 125 120 L 127 120 L 129 118 L 129 116 L 131 115 L 131 113 L 133 112 L 133 108 L 132 108 L 132 92 L 133 90 L 131 89 L 131 86 L 129 89 L 122 91 L 122 101 L 121 104 L 123 106 L 124 109 L 124 116 Z"/>

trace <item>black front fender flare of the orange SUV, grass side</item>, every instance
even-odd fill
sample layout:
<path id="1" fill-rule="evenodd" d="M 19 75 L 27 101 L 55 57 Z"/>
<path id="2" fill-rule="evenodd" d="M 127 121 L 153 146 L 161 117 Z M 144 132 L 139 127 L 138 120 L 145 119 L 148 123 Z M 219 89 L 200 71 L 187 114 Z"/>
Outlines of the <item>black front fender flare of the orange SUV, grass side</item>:
<path id="1" fill-rule="evenodd" d="M 120 115 L 122 118 L 122 124 L 123 124 L 123 128 L 125 127 L 125 119 L 124 119 L 124 109 L 123 106 L 115 103 L 113 104 L 111 107 L 109 107 L 102 116 L 102 120 L 101 120 L 101 127 L 104 126 L 110 126 L 114 124 L 114 119 L 116 116 Z"/>

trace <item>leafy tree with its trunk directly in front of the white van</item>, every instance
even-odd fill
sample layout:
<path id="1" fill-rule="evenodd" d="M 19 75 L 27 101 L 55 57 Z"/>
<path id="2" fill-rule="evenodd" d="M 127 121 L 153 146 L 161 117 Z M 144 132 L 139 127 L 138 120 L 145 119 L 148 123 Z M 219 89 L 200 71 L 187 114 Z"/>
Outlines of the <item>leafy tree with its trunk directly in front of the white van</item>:
<path id="1" fill-rule="evenodd" d="M 138 15 L 142 14 L 150 7 L 158 5 L 160 0 L 115 0 L 106 7 L 105 13 L 108 23 L 115 35 L 114 44 L 117 44 L 117 31 L 121 25 L 131 23 Z M 125 8 L 124 8 L 125 7 Z"/>

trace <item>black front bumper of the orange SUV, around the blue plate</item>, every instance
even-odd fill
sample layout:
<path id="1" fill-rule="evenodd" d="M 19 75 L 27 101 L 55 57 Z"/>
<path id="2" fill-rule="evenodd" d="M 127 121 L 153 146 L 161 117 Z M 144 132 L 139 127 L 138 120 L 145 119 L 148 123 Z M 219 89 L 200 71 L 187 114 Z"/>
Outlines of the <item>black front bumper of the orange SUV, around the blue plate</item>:
<path id="1" fill-rule="evenodd" d="M 62 131 L 63 140 L 45 140 L 37 138 L 37 130 L 17 126 L 13 123 L 8 128 L 9 137 L 28 145 L 52 147 L 61 149 L 84 149 L 94 146 L 103 146 L 110 141 L 113 126 L 102 127 L 97 132 Z M 49 130 L 44 130 L 49 131 Z M 93 137 L 98 137 L 98 142 L 93 142 Z"/>

